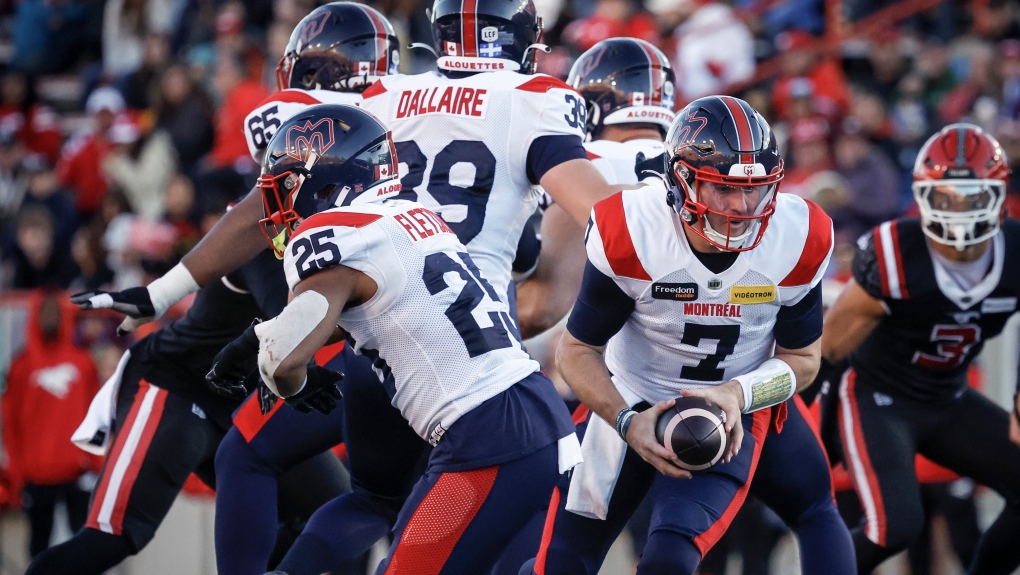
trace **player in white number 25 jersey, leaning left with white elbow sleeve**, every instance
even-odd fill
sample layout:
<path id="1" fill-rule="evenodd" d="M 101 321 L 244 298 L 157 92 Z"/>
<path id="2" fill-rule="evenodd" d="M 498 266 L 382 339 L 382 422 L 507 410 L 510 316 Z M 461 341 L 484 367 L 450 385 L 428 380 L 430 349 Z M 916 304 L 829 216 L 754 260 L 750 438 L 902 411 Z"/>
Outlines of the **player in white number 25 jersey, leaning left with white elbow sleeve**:
<path id="1" fill-rule="evenodd" d="M 483 573 L 580 448 L 464 245 L 423 205 L 391 199 L 393 149 L 371 114 L 339 105 L 308 108 L 270 142 L 266 238 L 303 221 L 284 259 L 295 297 L 256 329 L 259 373 L 282 396 L 315 393 L 306 366 L 339 323 L 392 372 L 394 405 L 435 446 L 378 572 Z"/>

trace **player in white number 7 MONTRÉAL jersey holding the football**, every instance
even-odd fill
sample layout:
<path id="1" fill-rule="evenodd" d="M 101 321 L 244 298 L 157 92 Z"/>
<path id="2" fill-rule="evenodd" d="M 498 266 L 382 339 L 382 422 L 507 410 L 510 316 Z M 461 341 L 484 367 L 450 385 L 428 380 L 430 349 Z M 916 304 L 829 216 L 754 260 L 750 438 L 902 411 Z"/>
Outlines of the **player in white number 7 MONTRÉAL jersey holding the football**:
<path id="1" fill-rule="evenodd" d="M 639 573 L 693 573 L 743 503 L 785 401 L 818 369 L 832 225 L 776 195 L 768 123 L 735 98 L 697 100 L 677 114 L 666 160 L 668 191 L 649 185 L 593 210 L 557 358 L 595 415 L 538 572 L 598 572 L 649 493 Z M 678 395 L 718 404 L 730 435 L 724 463 L 693 476 L 655 439 Z"/>

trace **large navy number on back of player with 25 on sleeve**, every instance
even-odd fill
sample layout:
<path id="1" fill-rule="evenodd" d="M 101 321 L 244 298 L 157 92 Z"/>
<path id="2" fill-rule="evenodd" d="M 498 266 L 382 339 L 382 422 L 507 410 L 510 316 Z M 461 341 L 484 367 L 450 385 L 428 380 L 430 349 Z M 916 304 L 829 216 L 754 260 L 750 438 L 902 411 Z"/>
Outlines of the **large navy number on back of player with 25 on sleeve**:
<path id="1" fill-rule="evenodd" d="M 491 311 L 487 315 L 493 324 L 489 327 L 478 325 L 472 312 L 483 302 L 495 304 L 499 301 L 499 297 L 489 281 L 481 276 L 470 256 L 463 252 L 456 253 L 456 256 L 459 261 L 446 252 L 425 256 L 421 279 L 432 296 L 451 288 L 445 277 L 449 272 L 458 274 L 464 280 L 464 286 L 457 294 L 457 299 L 447 308 L 446 316 L 450 318 L 450 322 L 464 341 L 468 357 L 473 358 L 494 350 L 509 348 L 513 346 L 514 341 L 519 342 L 506 312 Z"/>

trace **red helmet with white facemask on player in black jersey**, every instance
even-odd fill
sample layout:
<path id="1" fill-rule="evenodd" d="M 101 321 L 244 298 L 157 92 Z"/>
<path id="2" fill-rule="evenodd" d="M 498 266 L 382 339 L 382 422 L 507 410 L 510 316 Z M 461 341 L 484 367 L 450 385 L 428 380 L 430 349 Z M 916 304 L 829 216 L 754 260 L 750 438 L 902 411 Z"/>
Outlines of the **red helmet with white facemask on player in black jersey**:
<path id="1" fill-rule="evenodd" d="M 961 251 L 991 238 L 1006 216 L 1009 180 L 1009 161 L 994 138 L 970 123 L 944 127 L 914 163 L 924 233 Z"/>

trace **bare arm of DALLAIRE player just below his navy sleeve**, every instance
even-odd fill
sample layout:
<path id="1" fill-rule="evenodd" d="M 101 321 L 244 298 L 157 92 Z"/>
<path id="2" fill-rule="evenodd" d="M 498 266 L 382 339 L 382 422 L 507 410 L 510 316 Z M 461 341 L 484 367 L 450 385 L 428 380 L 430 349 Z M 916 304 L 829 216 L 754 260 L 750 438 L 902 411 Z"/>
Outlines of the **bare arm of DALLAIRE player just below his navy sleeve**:
<path id="1" fill-rule="evenodd" d="M 569 160 L 550 168 L 539 184 L 581 229 L 588 223 L 592 206 L 622 189 L 606 181 L 588 158 Z"/>

